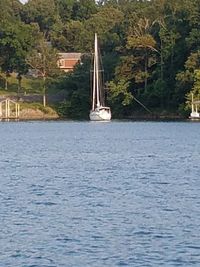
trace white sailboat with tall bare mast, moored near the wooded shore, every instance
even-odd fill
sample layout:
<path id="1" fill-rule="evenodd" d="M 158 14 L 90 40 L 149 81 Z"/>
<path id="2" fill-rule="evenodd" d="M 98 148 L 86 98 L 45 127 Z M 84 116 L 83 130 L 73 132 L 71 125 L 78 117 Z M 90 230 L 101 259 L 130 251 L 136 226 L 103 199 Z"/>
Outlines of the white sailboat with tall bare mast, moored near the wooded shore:
<path id="1" fill-rule="evenodd" d="M 100 54 L 98 49 L 98 39 L 95 33 L 94 59 L 92 77 L 92 109 L 90 110 L 91 121 L 110 121 L 110 107 L 105 106 L 105 92 L 102 80 L 102 69 L 100 68 Z"/>

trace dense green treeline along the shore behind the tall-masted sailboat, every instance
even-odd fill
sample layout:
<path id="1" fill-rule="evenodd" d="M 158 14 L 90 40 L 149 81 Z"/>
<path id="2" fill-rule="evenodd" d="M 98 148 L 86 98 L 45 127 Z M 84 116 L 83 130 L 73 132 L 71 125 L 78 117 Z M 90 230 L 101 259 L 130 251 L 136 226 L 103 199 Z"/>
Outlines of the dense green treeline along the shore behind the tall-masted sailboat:
<path id="1" fill-rule="evenodd" d="M 28 68 L 38 69 L 44 94 L 46 87 L 65 91 L 59 111 L 85 117 L 97 32 L 116 116 L 140 110 L 135 98 L 153 111 L 184 112 L 191 92 L 200 93 L 199 28 L 200 0 L 0 0 L 1 76 L 6 81 L 14 71 L 21 81 Z M 63 74 L 56 51 L 84 56 L 73 73 Z"/>

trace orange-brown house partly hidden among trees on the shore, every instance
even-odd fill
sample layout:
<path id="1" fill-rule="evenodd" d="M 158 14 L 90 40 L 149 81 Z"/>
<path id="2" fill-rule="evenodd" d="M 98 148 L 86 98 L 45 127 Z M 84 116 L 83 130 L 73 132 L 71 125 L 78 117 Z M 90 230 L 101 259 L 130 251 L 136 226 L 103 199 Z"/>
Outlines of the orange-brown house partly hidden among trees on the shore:
<path id="1" fill-rule="evenodd" d="M 81 61 L 81 53 L 58 53 L 58 66 L 64 72 L 69 72 L 74 69 L 74 66 Z"/>

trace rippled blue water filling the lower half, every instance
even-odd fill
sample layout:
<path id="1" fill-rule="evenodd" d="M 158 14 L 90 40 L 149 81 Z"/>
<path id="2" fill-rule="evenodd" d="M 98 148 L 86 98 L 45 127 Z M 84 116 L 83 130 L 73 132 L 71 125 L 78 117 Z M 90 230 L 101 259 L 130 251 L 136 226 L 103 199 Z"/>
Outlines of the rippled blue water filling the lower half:
<path id="1" fill-rule="evenodd" d="M 200 266 L 200 124 L 0 124 L 0 266 Z"/>

